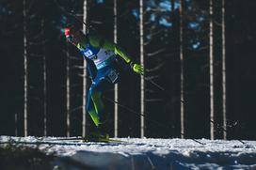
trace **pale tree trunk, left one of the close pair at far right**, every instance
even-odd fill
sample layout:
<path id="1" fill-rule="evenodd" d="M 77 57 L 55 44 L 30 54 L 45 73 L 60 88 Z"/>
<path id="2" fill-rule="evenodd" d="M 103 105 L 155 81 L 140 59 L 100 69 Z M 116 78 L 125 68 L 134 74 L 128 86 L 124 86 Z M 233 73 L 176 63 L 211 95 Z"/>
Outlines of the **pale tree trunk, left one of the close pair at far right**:
<path id="1" fill-rule="evenodd" d="M 209 37 L 209 67 L 210 67 L 210 132 L 211 140 L 215 139 L 215 103 L 214 103 L 214 23 L 213 23 L 213 0 L 209 4 L 210 12 L 210 37 Z"/>

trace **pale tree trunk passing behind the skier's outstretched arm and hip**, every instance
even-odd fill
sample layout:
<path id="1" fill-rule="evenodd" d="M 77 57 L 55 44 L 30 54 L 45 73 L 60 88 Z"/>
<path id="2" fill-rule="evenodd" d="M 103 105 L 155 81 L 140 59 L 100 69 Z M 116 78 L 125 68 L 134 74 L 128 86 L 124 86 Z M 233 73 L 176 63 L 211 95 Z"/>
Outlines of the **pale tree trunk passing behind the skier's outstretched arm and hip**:
<path id="1" fill-rule="evenodd" d="M 114 42 L 118 43 L 118 1 L 114 0 Z M 115 101 L 119 101 L 119 85 L 115 85 Z M 114 136 L 118 137 L 119 135 L 119 105 L 115 102 L 115 114 L 114 114 Z"/>

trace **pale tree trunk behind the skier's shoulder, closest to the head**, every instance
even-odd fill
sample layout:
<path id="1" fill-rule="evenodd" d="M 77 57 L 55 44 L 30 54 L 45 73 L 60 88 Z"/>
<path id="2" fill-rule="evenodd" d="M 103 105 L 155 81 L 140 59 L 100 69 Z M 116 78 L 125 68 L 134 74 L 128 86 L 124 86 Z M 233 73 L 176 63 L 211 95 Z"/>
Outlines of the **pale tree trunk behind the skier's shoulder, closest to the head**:
<path id="1" fill-rule="evenodd" d="M 84 23 L 88 20 L 88 1 L 84 0 Z M 83 24 L 83 31 L 87 34 L 87 25 Z M 86 136 L 87 132 L 87 61 L 84 59 L 84 73 L 83 73 L 83 123 L 82 123 L 82 136 Z"/>

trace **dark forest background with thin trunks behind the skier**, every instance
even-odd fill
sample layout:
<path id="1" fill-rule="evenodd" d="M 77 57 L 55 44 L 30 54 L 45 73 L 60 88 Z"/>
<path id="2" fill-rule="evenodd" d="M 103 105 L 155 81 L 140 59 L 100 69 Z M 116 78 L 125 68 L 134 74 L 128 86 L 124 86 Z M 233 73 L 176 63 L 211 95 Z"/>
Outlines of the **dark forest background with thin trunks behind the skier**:
<path id="1" fill-rule="evenodd" d="M 89 33 L 112 41 L 116 37 L 134 61 L 144 58 L 143 78 L 121 63 L 126 71 L 117 92 L 117 136 L 141 137 L 143 117 L 146 137 L 256 140 L 254 1 L 230 0 L 223 7 L 224 0 L 212 5 L 211 0 L 144 0 L 143 30 L 138 0 L 118 0 L 116 15 L 114 0 L 85 1 Z M 83 127 L 83 56 L 63 33 L 68 24 L 85 27 L 79 22 L 85 19 L 85 1 L 0 0 L 1 135 L 24 136 L 24 89 L 27 135 L 81 136 L 83 128 L 93 131 L 88 114 Z M 90 84 L 87 78 L 87 89 Z M 114 93 L 113 86 L 104 100 L 110 136 L 115 135 Z"/>

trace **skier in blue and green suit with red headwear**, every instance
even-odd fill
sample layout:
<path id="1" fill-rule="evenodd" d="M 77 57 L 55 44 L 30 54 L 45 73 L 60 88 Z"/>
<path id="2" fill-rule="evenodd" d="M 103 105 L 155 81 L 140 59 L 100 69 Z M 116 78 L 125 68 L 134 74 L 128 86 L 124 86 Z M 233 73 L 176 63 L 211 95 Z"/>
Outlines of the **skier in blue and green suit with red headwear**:
<path id="1" fill-rule="evenodd" d="M 104 115 L 106 110 L 103 92 L 109 85 L 120 80 L 120 64 L 122 58 L 136 73 L 142 74 L 143 67 L 133 62 L 128 54 L 111 41 L 95 35 L 85 35 L 76 26 L 64 29 L 66 39 L 72 43 L 88 62 L 88 72 L 92 84 L 88 90 L 87 111 L 99 132 L 104 133 Z"/>

